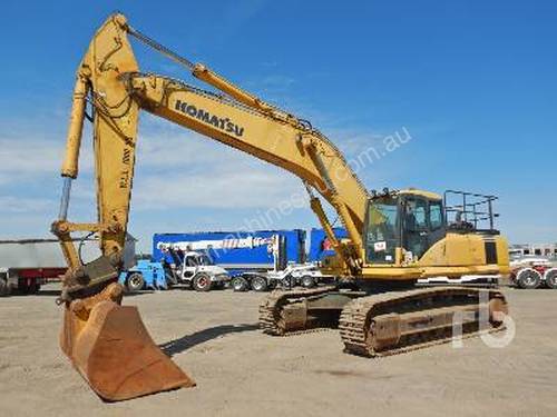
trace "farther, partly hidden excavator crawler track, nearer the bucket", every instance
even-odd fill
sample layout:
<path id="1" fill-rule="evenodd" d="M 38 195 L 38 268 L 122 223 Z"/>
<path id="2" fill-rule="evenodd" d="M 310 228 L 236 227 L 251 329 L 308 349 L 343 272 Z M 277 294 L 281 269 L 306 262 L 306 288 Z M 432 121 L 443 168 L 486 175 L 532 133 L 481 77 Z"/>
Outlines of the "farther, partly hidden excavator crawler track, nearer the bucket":
<path id="1" fill-rule="evenodd" d="M 289 328 L 284 307 L 311 297 L 322 296 L 335 289 L 336 287 L 329 286 L 313 289 L 274 290 L 260 305 L 260 328 L 263 332 L 272 336 L 293 336 L 325 330 L 326 328 L 323 327 L 296 330 Z"/>

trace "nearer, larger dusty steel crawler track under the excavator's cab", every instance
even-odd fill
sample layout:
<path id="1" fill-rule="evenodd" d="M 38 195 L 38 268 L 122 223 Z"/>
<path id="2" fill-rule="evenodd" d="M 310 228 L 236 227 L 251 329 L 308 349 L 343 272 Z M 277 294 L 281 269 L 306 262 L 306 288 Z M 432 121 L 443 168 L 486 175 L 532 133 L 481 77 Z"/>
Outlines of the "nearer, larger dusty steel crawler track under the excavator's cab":
<path id="1" fill-rule="evenodd" d="M 480 292 L 488 292 L 480 306 Z M 485 308 L 486 324 L 480 322 Z M 345 351 L 382 357 L 452 340 L 452 318 L 461 314 L 462 338 L 504 329 L 504 295 L 494 289 L 434 288 L 384 292 L 350 301 L 339 329 Z"/>

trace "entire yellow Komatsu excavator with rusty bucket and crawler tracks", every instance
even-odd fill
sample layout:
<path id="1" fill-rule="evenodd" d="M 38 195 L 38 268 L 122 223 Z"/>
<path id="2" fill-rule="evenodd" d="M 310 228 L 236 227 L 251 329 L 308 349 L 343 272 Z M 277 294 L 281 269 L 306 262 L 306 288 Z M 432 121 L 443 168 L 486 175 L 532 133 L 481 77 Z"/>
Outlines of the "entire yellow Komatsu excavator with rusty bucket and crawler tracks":
<path id="1" fill-rule="evenodd" d="M 130 37 L 185 66 L 218 93 L 140 72 Z M 489 328 L 502 327 L 507 302 L 497 290 L 482 298 L 470 288 L 413 288 L 424 277 L 508 272 L 507 242 L 497 231 L 449 227 L 442 198 L 432 192 L 368 191 L 339 149 L 310 122 L 192 63 L 117 13 L 95 33 L 77 70 L 60 212 L 51 228 L 69 267 L 59 298 L 65 308 L 61 349 L 102 399 L 195 385 L 155 345 L 137 309 L 121 306 L 118 272 L 140 110 L 281 167 L 307 189 L 336 254 L 323 267 L 341 279 L 335 286 L 272 292 L 260 307 L 265 332 L 338 326 L 346 351 L 377 356 L 446 340 L 457 314 L 470 334 L 481 330 L 482 309 Z M 67 218 L 86 118 L 94 126 L 98 207 L 98 219 L 90 224 Z M 339 215 L 346 239 L 334 236 L 319 196 Z M 72 232 L 98 234 L 102 255 L 84 264 Z"/>

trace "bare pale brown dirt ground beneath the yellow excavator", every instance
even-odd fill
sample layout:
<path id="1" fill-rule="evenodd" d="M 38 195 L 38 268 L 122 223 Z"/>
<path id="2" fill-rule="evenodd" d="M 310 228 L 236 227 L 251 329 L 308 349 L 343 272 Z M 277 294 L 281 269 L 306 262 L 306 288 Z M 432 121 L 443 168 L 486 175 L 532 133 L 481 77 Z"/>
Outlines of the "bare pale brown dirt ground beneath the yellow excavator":
<path id="1" fill-rule="evenodd" d="M 58 348 L 61 309 L 47 287 L 0 299 L 0 415 L 556 416 L 557 291 L 505 291 L 510 346 L 468 339 L 382 359 L 343 354 L 336 330 L 261 334 L 261 294 L 128 297 L 197 387 L 104 404 Z"/>

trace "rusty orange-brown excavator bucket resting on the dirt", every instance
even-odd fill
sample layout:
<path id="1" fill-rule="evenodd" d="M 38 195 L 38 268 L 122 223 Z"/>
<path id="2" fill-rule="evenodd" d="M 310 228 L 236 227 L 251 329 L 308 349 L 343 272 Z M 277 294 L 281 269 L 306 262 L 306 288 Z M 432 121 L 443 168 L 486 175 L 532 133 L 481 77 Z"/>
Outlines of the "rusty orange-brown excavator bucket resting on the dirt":
<path id="1" fill-rule="evenodd" d="M 195 383 L 153 341 L 136 307 L 111 300 L 66 307 L 60 346 L 107 401 L 193 387 Z"/>

